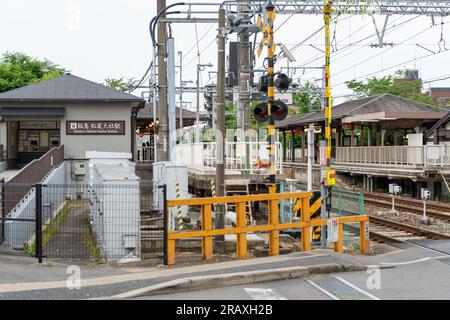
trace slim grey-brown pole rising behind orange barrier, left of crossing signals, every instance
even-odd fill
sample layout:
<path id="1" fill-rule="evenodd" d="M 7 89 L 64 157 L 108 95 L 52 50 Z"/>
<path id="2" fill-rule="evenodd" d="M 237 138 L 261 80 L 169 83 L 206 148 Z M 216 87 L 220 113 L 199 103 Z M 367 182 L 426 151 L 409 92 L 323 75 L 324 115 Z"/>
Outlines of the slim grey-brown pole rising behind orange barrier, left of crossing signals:
<path id="1" fill-rule="evenodd" d="M 219 10 L 219 34 L 217 50 L 217 129 L 216 129 L 216 195 L 224 195 L 225 189 L 225 9 Z M 216 206 L 215 227 L 225 227 L 223 205 Z M 217 237 L 224 240 L 224 236 Z"/>

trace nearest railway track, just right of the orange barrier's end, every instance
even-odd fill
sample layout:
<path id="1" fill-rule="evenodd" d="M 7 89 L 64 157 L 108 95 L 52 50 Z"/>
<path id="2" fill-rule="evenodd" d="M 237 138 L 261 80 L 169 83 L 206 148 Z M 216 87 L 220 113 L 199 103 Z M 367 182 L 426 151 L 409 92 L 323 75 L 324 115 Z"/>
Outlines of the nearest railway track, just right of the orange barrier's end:
<path id="1" fill-rule="evenodd" d="M 398 243 L 409 242 L 411 240 L 449 240 L 450 235 L 429 231 L 406 225 L 399 222 L 394 222 L 386 219 L 382 219 L 375 216 L 369 216 L 370 231 L 369 236 L 371 239 L 385 242 L 385 243 Z"/>

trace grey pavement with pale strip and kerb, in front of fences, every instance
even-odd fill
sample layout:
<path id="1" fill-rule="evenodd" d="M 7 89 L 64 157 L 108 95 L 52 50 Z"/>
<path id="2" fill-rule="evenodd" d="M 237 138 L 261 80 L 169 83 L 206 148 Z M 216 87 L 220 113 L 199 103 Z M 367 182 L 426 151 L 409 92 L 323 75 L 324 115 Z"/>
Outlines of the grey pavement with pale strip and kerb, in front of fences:
<path id="1" fill-rule="evenodd" d="M 81 289 L 71 290 L 67 288 L 66 282 L 70 274 L 67 273 L 67 266 L 63 264 L 49 267 L 36 263 L 23 263 L 3 268 L 11 263 L 11 261 L 5 263 L 5 260 L 8 258 L 0 258 L 2 268 L 0 299 L 103 298 L 186 277 L 217 276 L 255 270 L 325 264 L 347 264 L 345 257 L 330 256 L 329 250 L 317 250 L 278 257 L 234 260 L 188 267 L 159 266 L 134 269 L 125 266 L 80 266 Z M 23 276 L 23 281 L 19 280 L 20 275 Z"/>

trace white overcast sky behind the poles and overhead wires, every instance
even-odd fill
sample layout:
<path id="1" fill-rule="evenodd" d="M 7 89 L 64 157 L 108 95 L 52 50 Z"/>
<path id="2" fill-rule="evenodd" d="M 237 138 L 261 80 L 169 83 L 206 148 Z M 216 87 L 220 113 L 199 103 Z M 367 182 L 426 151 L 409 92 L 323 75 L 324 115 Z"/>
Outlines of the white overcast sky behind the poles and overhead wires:
<path id="1" fill-rule="evenodd" d="M 2 0 L 0 8 L 1 52 L 20 51 L 47 58 L 75 75 L 96 82 L 103 82 L 108 77 L 140 78 L 150 63 L 152 51 L 148 24 L 156 14 L 156 0 Z M 201 10 L 199 7 L 197 9 Z M 375 18 L 381 27 L 384 16 Z M 278 15 L 275 28 L 286 19 L 288 21 L 275 35 L 275 42 L 284 43 L 288 48 L 294 47 L 323 25 L 321 16 Z M 450 49 L 450 18 L 444 18 L 443 22 L 445 48 Z M 430 17 L 391 16 L 388 21 L 391 29 L 387 31 L 384 41 L 395 46 L 379 49 L 370 47 L 377 41 L 371 16 L 340 16 L 337 24 L 333 24 L 333 29 L 336 27 L 334 43 L 337 48 L 331 58 L 333 95 L 349 93 L 344 84 L 347 80 L 363 79 L 366 75 L 392 74 L 402 68 L 418 69 L 423 80 L 450 75 L 450 50 L 445 51 L 443 42 L 439 45 L 441 19 L 435 18 L 435 23 L 436 26 L 431 27 Z M 201 63 L 216 65 L 216 29 L 214 24 L 197 25 L 198 38 L 201 39 Z M 184 53 L 184 80 L 195 81 L 195 25 L 175 24 L 173 34 L 176 50 Z M 231 36 L 231 40 L 234 37 Z M 323 53 L 310 45 L 323 49 L 323 42 L 322 30 L 293 51 L 297 62 L 291 66 L 321 66 Z M 349 44 L 353 45 L 345 48 Z M 426 55 L 430 56 L 423 57 Z M 261 66 L 261 61 L 257 66 Z M 285 60 L 279 61 L 277 68 L 285 65 Z M 209 70 L 213 71 L 215 67 Z M 294 78 L 297 82 L 314 81 L 321 78 L 321 72 L 311 69 L 305 70 L 305 73 L 298 71 Z M 214 82 L 215 79 L 209 79 L 205 71 L 202 73 L 202 83 L 208 81 Z M 428 86 L 425 85 L 426 88 Z M 450 81 L 433 82 L 431 86 L 450 86 Z M 192 101 L 194 98 L 188 96 L 186 99 Z M 340 100 L 336 99 L 336 102 Z"/>

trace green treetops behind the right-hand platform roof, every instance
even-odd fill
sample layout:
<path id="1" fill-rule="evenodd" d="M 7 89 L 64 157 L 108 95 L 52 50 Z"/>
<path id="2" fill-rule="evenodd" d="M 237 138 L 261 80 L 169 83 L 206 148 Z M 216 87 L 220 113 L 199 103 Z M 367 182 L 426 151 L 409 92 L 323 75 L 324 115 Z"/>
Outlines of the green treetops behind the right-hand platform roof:
<path id="1" fill-rule="evenodd" d="M 410 100 L 436 105 L 432 97 L 422 93 L 422 81 L 408 79 L 411 70 L 398 70 L 394 75 L 381 78 L 372 77 L 365 81 L 347 81 L 347 88 L 351 89 L 358 98 L 377 96 L 390 93 Z"/>

